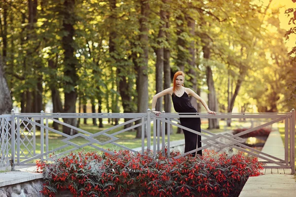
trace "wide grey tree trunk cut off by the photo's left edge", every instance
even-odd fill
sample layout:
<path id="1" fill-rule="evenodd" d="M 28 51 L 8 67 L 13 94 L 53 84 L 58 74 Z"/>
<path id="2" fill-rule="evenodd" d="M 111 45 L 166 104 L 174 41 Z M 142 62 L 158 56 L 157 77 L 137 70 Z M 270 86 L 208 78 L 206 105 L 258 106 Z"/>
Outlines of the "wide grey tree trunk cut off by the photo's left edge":
<path id="1" fill-rule="evenodd" d="M 2 57 L 0 55 L 0 115 L 10 114 L 12 109 L 12 101 L 7 81 L 4 75 Z"/>

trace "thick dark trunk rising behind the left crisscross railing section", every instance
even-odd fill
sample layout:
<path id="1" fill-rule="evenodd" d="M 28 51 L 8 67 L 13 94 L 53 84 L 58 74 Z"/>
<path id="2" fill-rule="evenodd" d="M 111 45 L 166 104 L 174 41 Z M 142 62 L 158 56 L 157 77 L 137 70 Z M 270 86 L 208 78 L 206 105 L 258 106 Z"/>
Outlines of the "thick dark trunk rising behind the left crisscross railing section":
<path id="1" fill-rule="evenodd" d="M 61 10 L 61 15 L 63 18 L 63 26 L 61 31 L 62 36 L 62 47 L 64 50 L 64 75 L 70 80 L 65 82 L 65 103 L 64 112 L 65 113 L 75 113 L 76 111 L 76 99 L 77 93 L 75 86 L 77 85 L 78 76 L 76 70 L 78 69 L 78 61 L 74 56 L 74 25 L 76 21 L 76 16 L 74 12 L 75 0 L 65 0 L 64 9 Z M 64 122 L 76 126 L 76 118 L 64 118 Z M 74 135 L 77 131 L 72 130 L 69 127 L 63 126 L 63 132 L 69 135 Z"/>

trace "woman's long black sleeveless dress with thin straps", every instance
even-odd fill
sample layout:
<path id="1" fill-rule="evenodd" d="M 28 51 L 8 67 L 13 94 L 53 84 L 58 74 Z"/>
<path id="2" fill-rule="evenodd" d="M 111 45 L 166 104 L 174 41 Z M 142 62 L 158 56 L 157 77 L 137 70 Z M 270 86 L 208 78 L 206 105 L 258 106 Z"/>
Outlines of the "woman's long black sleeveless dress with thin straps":
<path id="1" fill-rule="evenodd" d="M 174 93 L 172 95 L 172 100 L 174 104 L 174 109 L 178 113 L 196 113 L 197 110 L 191 105 L 189 96 L 187 93 L 181 97 L 176 96 Z M 200 118 L 180 118 L 181 125 L 192 129 L 194 131 L 200 132 Z M 196 149 L 196 143 L 198 141 L 198 148 L 201 147 L 201 136 L 193 132 L 183 130 L 185 136 L 185 153 Z M 197 140 L 198 139 L 198 140 Z M 198 151 L 197 154 L 202 155 L 202 151 Z M 192 153 L 195 155 L 195 152 Z"/>

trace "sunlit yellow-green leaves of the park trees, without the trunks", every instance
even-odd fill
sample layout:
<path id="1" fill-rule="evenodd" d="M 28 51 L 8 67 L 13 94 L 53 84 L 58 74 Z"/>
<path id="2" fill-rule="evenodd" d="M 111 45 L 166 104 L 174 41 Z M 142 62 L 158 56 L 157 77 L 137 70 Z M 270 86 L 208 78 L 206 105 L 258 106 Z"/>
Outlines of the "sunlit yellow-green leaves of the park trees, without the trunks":
<path id="1" fill-rule="evenodd" d="M 138 73 L 135 66 L 141 63 L 143 52 L 139 40 L 142 1 L 115 0 L 116 6 L 111 8 L 111 0 L 75 0 L 74 11 L 67 18 L 61 16 L 66 11 L 63 2 L 37 1 L 34 23 L 29 21 L 27 1 L 1 2 L 7 7 L 7 15 L 4 19 L 1 10 L 0 52 L 4 49 L 6 20 L 5 71 L 15 102 L 23 102 L 23 93 L 35 92 L 41 83 L 43 102 L 50 99 L 51 88 L 75 90 L 78 97 L 85 100 L 104 98 L 103 110 L 107 111 L 116 99 L 115 105 L 121 105 L 118 85 L 125 78 L 130 85 L 129 97 L 133 98 L 131 108 L 136 111 Z M 184 66 L 185 72 L 194 69 L 197 73 L 197 76 L 186 75 L 188 87 L 192 86 L 189 79 L 194 79 L 199 88 L 206 89 L 205 66 L 211 66 L 222 112 L 228 106 L 227 93 L 234 94 L 238 79 L 243 79 L 243 83 L 235 103 L 237 107 L 251 109 L 257 105 L 259 111 L 264 112 L 291 109 L 296 90 L 294 76 L 290 75 L 294 63 L 288 63 L 282 37 L 288 39 L 296 30 L 292 27 L 285 34 L 280 29 L 278 9 L 252 0 L 153 0 L 149 5 L 146 71 L 151 75 L 149 84 L 154 84 L 155 49 L 165 47 L 170 50 L 172 72 Z M 160 10 L 168 13 L 165 21 L 160 18 Z M 294 11 L 288 9 L 286 14 L 291 17 Z M 195 21 L 194 36 L 189 33 L 189 18 Z M 62 37 L 67 32 L 62 28 L 63 20 L 74 22 L 75 68 L 68 68 L 68 60 L 64 60 Z M 164 28 L 167 34 L 157 39 L 160 27 L 166 22 L 169 23 L 169 27 Z M 114 43 L 111 52 L 110 42 Z M 196 51 L 195 66 L 188 64 L 191 42 Z M 210 50 L 208 60 L 203 57 L 204 46 Z M 295 51 L 293 48 L 290 55 Z M 49 65 L 50 61 L 53 66 Z M 68 69 L 75 69 L 77 76 L 65 75 Z M 41 76 L 41 81 L 36 76 Z M 228 77 L 232 91 L 228 89 Z M 149 96 L 154 94 L 154 89 L 148 88 Z"/>

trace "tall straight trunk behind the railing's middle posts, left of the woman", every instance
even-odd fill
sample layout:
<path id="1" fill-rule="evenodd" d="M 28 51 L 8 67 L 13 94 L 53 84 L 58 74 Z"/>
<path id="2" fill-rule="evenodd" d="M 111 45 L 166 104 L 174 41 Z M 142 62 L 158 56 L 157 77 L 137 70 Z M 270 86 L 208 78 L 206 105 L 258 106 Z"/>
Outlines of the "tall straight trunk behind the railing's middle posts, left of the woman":
<path id="1" fill-rule="evenodd" d="M 138 69 L 138 112 L 145 113 L 148 109 L 148 17 L 150 6 L 148 0 L 141 0 L 140 43 L 143 52 L 140 54 L 141 64 Z M 150 123 L 148 123 L 150 124 Z M 145 134 L 147 135 L 147 134 Z M 136 138 L 141 138 L 141 128 L 137 128 Z"/>

